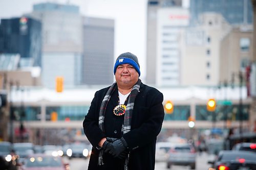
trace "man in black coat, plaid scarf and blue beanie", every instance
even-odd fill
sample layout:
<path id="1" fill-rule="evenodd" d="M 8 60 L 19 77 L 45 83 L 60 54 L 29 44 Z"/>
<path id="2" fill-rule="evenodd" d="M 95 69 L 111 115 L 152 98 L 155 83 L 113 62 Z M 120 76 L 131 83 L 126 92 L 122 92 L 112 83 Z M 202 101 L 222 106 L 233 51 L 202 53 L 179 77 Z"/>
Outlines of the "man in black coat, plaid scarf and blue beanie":
<path id="1" fill-rule="evenodd" d="M 154 169 L 163 94 L 141 83 L 140 65 L 132 53 L 117 58 L 114 75 L 116 82 L 95 93 L 83 120 L 93 145 L 88 169 Z"/>

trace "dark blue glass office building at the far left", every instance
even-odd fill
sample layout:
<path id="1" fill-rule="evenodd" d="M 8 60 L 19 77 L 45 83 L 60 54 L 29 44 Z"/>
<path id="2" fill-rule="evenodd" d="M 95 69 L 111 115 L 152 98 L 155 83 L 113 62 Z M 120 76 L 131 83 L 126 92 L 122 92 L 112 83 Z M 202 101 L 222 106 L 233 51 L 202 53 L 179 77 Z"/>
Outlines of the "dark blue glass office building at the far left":
<path id="1" fill-rule="evenodd" d="M 31 17 L 1 19 L 0 53 L 19 54 L 19 66 L 41 66 L 41 22 Z"/>

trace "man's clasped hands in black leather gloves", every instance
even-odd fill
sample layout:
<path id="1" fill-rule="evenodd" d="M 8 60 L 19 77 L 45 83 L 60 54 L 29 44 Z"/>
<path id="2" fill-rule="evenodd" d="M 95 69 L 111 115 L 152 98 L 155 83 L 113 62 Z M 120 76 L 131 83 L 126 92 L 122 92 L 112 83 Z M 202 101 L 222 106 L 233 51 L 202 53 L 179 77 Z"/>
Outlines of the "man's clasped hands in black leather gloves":
<path id="1" fill-rule="evenodd" d="M 106 141 L 103 143 L 102 148 L 105 153 L 109 153 L 115 158 L 124 159 L 127 157 L 127 143 L 126 141 L 121 138 L 110 138 L 107 137 Z"/>

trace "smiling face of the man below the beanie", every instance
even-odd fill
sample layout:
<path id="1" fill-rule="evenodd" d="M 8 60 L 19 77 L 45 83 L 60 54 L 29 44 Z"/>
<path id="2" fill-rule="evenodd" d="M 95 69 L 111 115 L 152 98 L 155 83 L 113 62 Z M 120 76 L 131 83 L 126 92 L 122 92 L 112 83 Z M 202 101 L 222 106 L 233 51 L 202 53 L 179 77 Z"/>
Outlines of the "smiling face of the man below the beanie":
<path id="1" fill-rule="evenodd" d="M 139 79 L 139 74 L 131 64 L 121 64 L 116 68 L 116 82 L 119 85 L 133 86 Z"/>

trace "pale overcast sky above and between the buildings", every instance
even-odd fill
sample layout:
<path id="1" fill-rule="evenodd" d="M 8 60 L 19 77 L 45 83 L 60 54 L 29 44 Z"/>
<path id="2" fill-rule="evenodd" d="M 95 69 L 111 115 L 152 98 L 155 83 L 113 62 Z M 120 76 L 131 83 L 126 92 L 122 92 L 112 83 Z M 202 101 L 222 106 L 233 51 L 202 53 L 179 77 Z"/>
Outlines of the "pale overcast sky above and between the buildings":
<path id="1" fill-rule="evenodd" d="M 131 52 L 139 59 L 141 78 L 145 78 L 146 3 L 147 0 L 0 0 L 0 18 L 29 13 L 33 4 L 70 3 L 80 7 L 86 16 L 115 19 L 115 56 Z"/>

